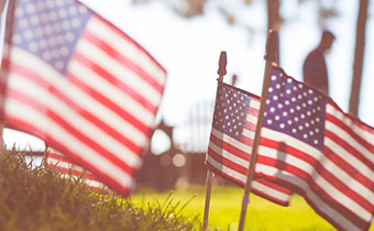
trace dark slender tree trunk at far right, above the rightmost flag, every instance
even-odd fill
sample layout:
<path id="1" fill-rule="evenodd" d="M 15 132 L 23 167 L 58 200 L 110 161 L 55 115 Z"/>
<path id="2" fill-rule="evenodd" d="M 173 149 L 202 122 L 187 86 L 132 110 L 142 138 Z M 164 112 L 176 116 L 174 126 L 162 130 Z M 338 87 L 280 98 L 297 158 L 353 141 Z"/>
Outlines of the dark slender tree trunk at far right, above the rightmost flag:
<path id="1" fill-rule="evenodd" d="M 367 20 L 367 4 L 369 0 L 360 0 L 355 36 L 352 88 L 350 98 L 350 113 L 355 117 L 359 116 L 360 89 L 365 47 L 365 29 Z"/>

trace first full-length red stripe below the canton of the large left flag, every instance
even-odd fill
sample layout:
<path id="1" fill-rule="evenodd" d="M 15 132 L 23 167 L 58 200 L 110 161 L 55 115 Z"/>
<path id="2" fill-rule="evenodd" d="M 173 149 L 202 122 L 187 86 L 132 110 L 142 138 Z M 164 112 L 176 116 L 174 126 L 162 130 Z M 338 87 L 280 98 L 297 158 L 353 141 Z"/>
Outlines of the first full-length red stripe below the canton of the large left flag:
<path id="1" fill-rule="evenodd" d="M 133 143 L 127 136 L 123 136 L 121 133 L 117 132 L 114 129 L 109 127 L 102 120 L 100 120 L 97 117 L 95 117 L 90 111 L 86 110 L 86 108 L 80 107 L 79 105 L 75 103 L 73 100 L 67 98 L 63 92 L 61 92 L 56 88 L 53 88 L 53 86 L 48 85 L 48 82 L 45 81 L 42 77 L 40 77 L 36 73 L 34 73 L 32 70 L 26 70 L 25 68 L 23 68 L 21 66 L 18 66 L 15 64 L 14 64 L 13 72 L 20 74 L 21 77 L 24 77 L 24 78 L 28 78 L 30 80 L 33 80 L 35 84 L 38 84 L 42 87 L 44 87 L 44 88 L 48 89 L 50 91 L 52 91 L 51 94 L 54 94 L 57 98 L 59 98 L 62 101 L 64 101 L 66 106 L 68 106 L 73 110 L 75 110 L 78 114 L 80 114 L 87 121 L 90 121 L 92 124 L 95 124 L 101 131 L 106 132 L 109 136 L 113 138 L 114 140 L 119 141 L 120 143 L 123 143 L 132 152 L 134 152 L 136 154 L 141 154 L 142 153 L 142 147 L 140 147 L 139 145 Z M 11 92 L 12 90 L 9 89 L 9 91 Z M 24 96 L 23 98 L 28 98 L 28 97 Z M 33 100 L 31 100 L 31 101 L 33 101 Z M 38 105 L 38 106 L 36 106 L 36 105 Z M 41 107 L 44 108 L 44 106 L 41 105 L 41 103 L 36 103 L 36 105 L 33 103 L 33 106 L 38 108 L 38 110 L 41 110 Z M 48 110 L 48 109 L 44 108 L 44 111 L 45 110 Z M 50 112 L 52 112 L 52 111 L 50 110 Z"/>

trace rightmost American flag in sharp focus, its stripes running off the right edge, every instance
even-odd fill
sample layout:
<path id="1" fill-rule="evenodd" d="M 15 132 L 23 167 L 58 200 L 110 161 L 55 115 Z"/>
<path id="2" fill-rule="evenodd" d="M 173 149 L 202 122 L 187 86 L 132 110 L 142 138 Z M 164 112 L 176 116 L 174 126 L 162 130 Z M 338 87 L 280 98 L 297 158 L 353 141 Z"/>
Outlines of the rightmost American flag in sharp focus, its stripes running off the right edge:
<path id="1" fill-rule="evenodd" d="M 338 230 L 369 230 L 374 129 L 274 67 L 257 174 L 304 196 Z"/>

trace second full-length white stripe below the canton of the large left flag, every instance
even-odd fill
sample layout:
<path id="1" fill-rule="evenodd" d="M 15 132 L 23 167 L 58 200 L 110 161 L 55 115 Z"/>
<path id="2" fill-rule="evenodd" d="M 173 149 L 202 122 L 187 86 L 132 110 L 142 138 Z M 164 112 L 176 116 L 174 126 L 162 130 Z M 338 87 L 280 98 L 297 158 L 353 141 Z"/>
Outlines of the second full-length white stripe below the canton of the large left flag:
<path id="1" fill-rule="evenodd" d="M 46 88 L 40 87 L 34 81 L 26 78 L 19 77 L 18 75 L 10 75 L 10 80 L 8 81 L 8 87 L 16 89 L 22 94 L 26 95 L 29 98 L 35 101 L 41 101 L 41 99 L 48 99 L 50 109 L 56 114 L 61 116 L 65 121 L 67 121 L 75 129 L 79 130 L 87 138 L 90 138 L 94 142 L 98 144 L 105 144 L 105 148 L 113 153 L 118 158 L 125 160 L 125 162 L 133 167 L 138 167 L 141 164 L 140 157 L 130 151 L 122 143 L 112 139 L 110 135 L 103 133 L 92 123 L 89 123 L 86 119 L 80 117 L 75 110 L 62 102 L 55 95 L 50 94 Z"/>

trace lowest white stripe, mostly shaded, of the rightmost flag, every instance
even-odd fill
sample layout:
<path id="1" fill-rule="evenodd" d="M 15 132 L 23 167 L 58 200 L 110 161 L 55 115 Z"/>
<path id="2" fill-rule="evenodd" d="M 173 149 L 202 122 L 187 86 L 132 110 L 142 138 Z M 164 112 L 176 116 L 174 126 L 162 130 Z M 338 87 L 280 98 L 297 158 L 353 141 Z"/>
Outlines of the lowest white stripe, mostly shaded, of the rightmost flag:
<path id="1" fill-rule="evenodd" d="M 279 179 L 283 179 L 285 182 L 288 182 L 299 188 L 301 188 L 305 193 L 307 198 L 316 205 L 318 209 L 320 209 L 322 212 L 324 212 L 326 216 L 328 216 L 331 220 L 336 221 L 336 223 L 339 223 L 341 227 L 343 227 L 346 230 L 350 231 L 355 231 L 360 230 L 354 223 L 352 223 L 348 218 L 343 217 L 339 211 L 334 210 L 331 208 L 329 205 L 324 204 L 318 195 L 316 195 L 309 187 L 307 183 L 301 180 L 299 177 L 282 172 L 279 174 L 279 169 L 267 166 L 267 165 L 262 165 L 257 164 L 257 168 L 262 169 L 262 172 L 268 176 L 276 176 Z"/>

